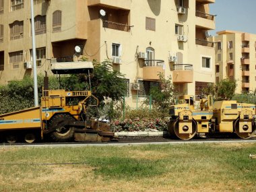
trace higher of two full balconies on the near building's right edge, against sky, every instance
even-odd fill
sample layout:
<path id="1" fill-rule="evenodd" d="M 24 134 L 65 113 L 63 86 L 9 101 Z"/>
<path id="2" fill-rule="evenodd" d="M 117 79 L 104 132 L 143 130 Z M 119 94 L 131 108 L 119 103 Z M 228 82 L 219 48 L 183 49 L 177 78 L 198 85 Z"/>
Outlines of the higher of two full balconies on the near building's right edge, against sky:
<path id="1" fill-rule="evenodd" d="M 195 11 L 195 24 L 200 28 L 206 28 L 207 30 L 215 29 L 215 16 L 201 11 Z"/>

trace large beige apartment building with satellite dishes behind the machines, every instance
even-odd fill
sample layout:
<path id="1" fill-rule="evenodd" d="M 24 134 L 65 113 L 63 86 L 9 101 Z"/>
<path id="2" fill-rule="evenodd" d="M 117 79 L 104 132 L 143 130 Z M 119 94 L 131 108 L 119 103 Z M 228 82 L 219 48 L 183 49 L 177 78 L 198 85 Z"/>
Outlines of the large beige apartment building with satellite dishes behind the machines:
<path id="1" fill-rule="evenodd" d="M 113 63 L 129 95 L 149 95 L 158 73 L 181 94 L 201 94 L 215 81 L 209 30 L 215 0 L 34 0 L 36 65 L 72 61 L 75 46 L 88 59 Z M 30 0 L 0 0 L 0 83 L 32 75 Z"/>

